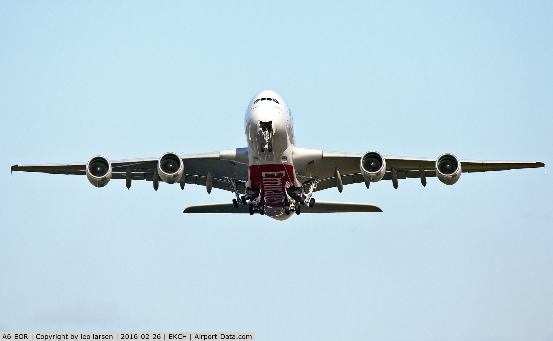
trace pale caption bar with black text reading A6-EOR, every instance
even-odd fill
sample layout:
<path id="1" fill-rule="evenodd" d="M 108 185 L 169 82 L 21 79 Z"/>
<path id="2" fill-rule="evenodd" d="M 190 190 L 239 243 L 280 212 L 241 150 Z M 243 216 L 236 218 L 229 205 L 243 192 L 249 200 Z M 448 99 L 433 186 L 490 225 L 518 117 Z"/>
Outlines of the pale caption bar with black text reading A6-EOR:
<path id="1" fill-rule="evenodd" d="M 2 333 L 0 341 L 255 340 L 255 333 Z"/>

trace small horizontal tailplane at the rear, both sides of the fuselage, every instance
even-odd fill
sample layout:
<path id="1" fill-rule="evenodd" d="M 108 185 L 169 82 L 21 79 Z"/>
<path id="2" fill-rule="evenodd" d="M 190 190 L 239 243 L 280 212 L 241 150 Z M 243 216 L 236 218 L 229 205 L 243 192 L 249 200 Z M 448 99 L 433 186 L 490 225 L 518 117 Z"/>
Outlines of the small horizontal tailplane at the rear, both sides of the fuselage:
<path id="1" fill-rule="evenodd" d="M 371 204 L 340 203 L 338 201 L 315 201 L 315 207 L 300 206 L 301 213 L 336 213 L 336 212 L 382 212 L 380 207 Z M 186 207 L 182 213 L 248 213 L 248 206 L 234 208 L 232 203 L 193 205 Z M 259 214 L 259 212 L 255 212 Z"/>

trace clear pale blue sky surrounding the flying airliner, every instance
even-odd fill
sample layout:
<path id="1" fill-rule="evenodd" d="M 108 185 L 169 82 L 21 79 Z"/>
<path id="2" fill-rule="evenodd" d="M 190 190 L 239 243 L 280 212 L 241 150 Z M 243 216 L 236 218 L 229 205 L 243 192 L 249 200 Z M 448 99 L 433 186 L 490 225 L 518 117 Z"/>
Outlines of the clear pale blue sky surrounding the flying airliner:
<path id="1" fill-rule="evenodd" d="M 553 164 L 551 2 L 0 2 L 0 329 L 553 340 L 544 169 L 316 193 L 383 213 L 184 215 L 187 184 L 15 172 L 246 146 Z"/>

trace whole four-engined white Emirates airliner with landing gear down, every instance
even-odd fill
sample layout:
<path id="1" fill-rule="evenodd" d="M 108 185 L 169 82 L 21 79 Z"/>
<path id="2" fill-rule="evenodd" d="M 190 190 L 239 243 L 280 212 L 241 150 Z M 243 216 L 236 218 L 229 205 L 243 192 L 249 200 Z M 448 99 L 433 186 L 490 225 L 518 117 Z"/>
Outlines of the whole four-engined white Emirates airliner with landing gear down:
<path id="1" fill-rule="evenodd" d="M 538 161 L 460 160 L 453 154 L 438 158 L 383 156 L 370 151 L 364 154 L 327 152 L 295 147 L 294 121 L 286 101 L 271 90 L 255 95 L 244 117 L 248 147 L 220 152 L 185 154 L 165 153 L 159 158 L 108 161 L 103 156 L 88 162 L 53 164 L 15 164 L 13 170 L 54 174 L 81 174 L 96 187 L 110 179 L 159 181 L 203 185 L 207 193 L 213 187 L 236 195 L 232 203 L 194 205 L 184 213 L 259 213 L 277 220 L 293 213 L 382 212 L 371 204 L 315 201 L 315 191 L 343 185 L 437 177 L 446 185 L 457 182 L 461 172 L 488 172 L 518 168 L 544 167 Z"/>

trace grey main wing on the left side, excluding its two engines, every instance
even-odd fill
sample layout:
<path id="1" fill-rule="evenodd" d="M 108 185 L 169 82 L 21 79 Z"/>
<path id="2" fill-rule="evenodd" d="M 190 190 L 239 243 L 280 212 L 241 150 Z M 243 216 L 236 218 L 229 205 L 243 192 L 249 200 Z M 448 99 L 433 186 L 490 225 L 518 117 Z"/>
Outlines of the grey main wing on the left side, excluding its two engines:
<path id="1" fill-rule="evenodd" d="M 244 155 L 245 153 L 245 155 Z M 238 180 L 238 190 L 243 193 L 248 180 L 248 148 L 237 148 L 212 153 L 180 155 L 184 164 L 186 183 L 206 185 L 207 173 L 213 175 L 213 187 L 231 191 L 228 179 Z M 153 181 L 154 170 L 159 157 L 124 159 L 110 161 L 112 179 L 125 179 L 127 168 L 131 169 L 133 180 Z M 12 172 L 39 172 L 51 174 L 86 175 L 86 162 L 14 164 Z M 161 182 L 162 180 L 159 179 Z"/>

